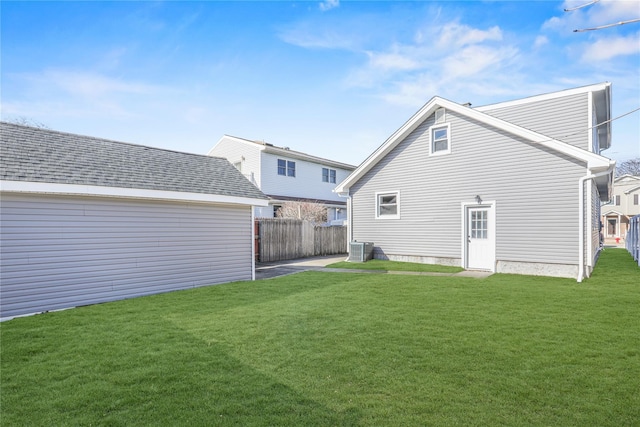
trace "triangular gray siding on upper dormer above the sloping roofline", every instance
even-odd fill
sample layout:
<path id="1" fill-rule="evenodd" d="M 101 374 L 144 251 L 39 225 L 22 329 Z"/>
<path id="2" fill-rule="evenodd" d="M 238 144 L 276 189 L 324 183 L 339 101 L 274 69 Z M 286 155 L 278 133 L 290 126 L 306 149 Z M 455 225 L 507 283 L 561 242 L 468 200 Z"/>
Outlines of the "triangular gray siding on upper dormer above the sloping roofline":
<path id="1" fill-rule="evenodd" d="M 518 126 L 591 151 L 588 93 L 481 111 Z M 489 108 L 489 107 L 487 107 Z"/>

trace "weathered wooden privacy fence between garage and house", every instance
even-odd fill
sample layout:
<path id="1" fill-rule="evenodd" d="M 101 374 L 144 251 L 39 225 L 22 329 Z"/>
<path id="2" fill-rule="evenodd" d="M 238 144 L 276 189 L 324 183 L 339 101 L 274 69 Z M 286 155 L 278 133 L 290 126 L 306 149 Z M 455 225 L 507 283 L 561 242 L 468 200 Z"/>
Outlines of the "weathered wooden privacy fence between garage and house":
<path id="1" fill-rule="evenodd" d="M 282 261 L 347 253 L 347 227 L 299 219 L 256 219 L 256 260 Z"/>

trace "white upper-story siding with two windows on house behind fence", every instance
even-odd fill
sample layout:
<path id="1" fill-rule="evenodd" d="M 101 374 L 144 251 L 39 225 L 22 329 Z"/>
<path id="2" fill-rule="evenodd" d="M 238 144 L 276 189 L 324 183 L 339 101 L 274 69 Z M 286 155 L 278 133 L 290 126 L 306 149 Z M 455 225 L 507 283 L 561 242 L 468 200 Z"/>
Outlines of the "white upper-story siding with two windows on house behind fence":
<path id="1" fill-rule="evenodd" d="M 296 163 L 296 176 L 278 175 L 278 159 Z M 322 182 L 322 168 L 335 169 L 336 183 Z M 269 153 L 262 153 L 262 187 L 267 195 L 301 197 L 307 199 L 333 200 L 345 202 L 333 189 L 349 176 L 349 171 L 319 163 L 307 162 L 296 158 L 288 158 Z"/>

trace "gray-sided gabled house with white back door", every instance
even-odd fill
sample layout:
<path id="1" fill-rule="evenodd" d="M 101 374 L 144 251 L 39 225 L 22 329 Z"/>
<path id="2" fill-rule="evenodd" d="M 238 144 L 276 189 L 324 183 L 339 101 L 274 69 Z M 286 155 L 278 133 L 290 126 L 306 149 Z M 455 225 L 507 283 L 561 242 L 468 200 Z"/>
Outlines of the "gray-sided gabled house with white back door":
<path id="1" fill-rule="evenodd" d="M 376 258 L 581 281 L 611 194 L 610 91 L 479 108 L 434 97 L 337 186 L 350 239 Z"/>

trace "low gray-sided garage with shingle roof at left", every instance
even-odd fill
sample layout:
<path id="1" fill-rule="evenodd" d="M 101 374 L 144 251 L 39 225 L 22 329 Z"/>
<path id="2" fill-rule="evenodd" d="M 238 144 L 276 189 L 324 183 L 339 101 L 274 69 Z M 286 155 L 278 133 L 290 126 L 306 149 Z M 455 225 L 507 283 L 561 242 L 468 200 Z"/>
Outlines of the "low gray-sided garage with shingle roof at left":
<path id="1" fill-rule="evenodd" d="M 254 278 L 227 160 L 1 123 L 0 317 Z"/>

